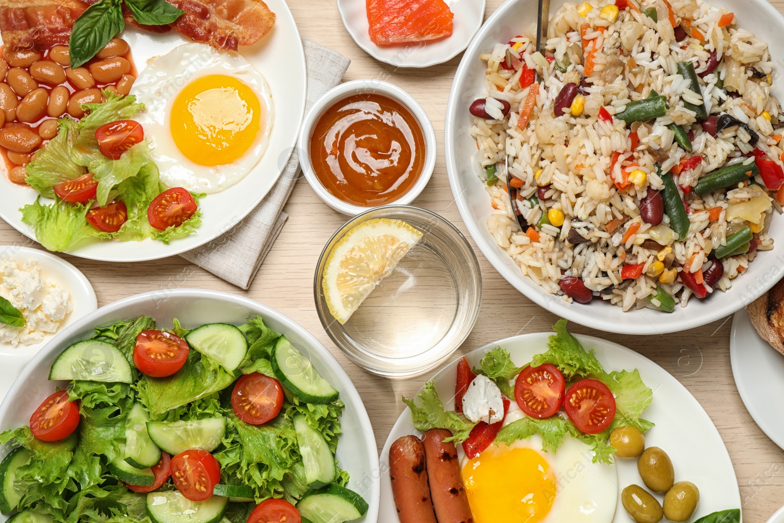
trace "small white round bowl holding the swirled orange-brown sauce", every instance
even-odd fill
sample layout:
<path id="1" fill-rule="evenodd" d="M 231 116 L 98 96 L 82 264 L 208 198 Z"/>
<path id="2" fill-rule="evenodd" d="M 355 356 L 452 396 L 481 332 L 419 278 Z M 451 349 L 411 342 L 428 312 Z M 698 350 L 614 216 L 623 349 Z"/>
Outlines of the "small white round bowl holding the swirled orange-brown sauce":
<path id="1" fill-rule="evenodd" d="M 324 114 L 329 107 L 332 107 L 332 104 L 354 94 L 380 94 L 389 96 L 402 104 L 408 111 L 411 111 L 411 114 L 414 115 L 416 121 L 419 122 L 419 127 L 422 128 L 422 134 L 425 137 L 425 165 L 423 166 L 422 174 L 419 175 L 419 180 L 416 180 L 416 183 L 414 183 L 413 187 L 411 187 L 407 193 L 403 194 L 400 198 L 397 198 L 397 200 L 394 200 L 394 202 L 389 202 L 391 205 L 408 205 L 414 201 L 414 198 L 419 196 L 419 193 L 423 191 L 427 182 L 430 181 L 430 176 L 433 174 L 433 169 L 436 165 L 436 133 L 433 130 L 433 124 L 430 123 L 430 118 L 427 118 L 425 110 L 416 100 L 414 100 L 413 96 L 397 87 L 397 85 L 392 85 L 388 82 L 382 82 L 380 80 L 352 80 L 351 82 L 346 82 L 329 89 L 324 96 L 321 96 L 321 98 L 313 104 L 313 107 L 310 107 L 310 111 L 307 111 L 307 114 L 305 115 L 302 128 L 299 129 L 299 140 L 297 140 L 296 146 L 297 153 L 299 154 L 299 165 L 302 166 L 305 178 L 307 178 L 310 187 L 313 187 L 313 190 L 316 191 L 319 198 L 324 200 L 332 209 L 343 212 L 343 214 L 346 214 L 347 216 L 357 216 L 360 212 L 365 212 L 373 208 L 352 205 L 343 202 L 343 200 L 337 198 L 334 194 L 331 194 L 321 185 L 318 176 L 316 176 L 316 173 L 313 170 L 313 164 L 310 162 L 310 136 L 313 134 L 313 129 L 318 123 L 318 119 L 321 118 L 321 115 Z"/>

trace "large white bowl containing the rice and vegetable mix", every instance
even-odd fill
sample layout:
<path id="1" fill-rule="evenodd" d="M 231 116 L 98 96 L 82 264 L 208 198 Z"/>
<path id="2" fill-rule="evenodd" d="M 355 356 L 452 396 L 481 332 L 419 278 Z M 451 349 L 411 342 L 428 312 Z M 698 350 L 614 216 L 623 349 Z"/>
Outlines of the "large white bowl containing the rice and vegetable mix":
<path id="1" fill-rule="evenodd" d="M 782 59 L 784 16 L 775 7 L 764 0 L 724 0 L 720 3 L 706 0 L 712 1 L 719 7 L 738 13 L 740 26 L 768 42 L 772 60 Z M 550 13 L 555 13 L 563 4 L 564 0 L 551 2 Z M 600 303 L 599 300 L 593 300 L 590 305 L 566 303 L 561 300 L 561 296 L 546 293 L 530 278 L 523 276 L 506 251 L 495 244 L 486 225 L 492 211 L 490 198 L 474 165 L 477 147 L 468 132 L 473 123 L 468 107 L 483 92 L 485 64 L 479 55 L 488 52 L 498 42 L 507 42 L 529 24 L 535 23 L 536 9 L 536 2 L 527 0 L 508 0 L 501 5 L 466 49 L 449 94 L 445 125 L 449 184 L 468 231 L 492 266 L 529 300 L 553 314 L 593 329 L 626 334 L 663 334 L 706 325 L 738 311 L 770 289 L 784 275 L 784 254 L 779 252 L 779 249 L 784 249 L 784 227 L 778 215 L 774 216 L 769 232 L 775 244 L 779 245 L 777 249 L 761 252 L 751 263 L 749 271 L 732 281 L 732 288 L 728 292 L 714 292 L 715 296 L 703 301 L 692 298 L 688 307 L 677 307 L 672 314 L 652 309 L 622 312 L 620 307 Z M 775 64 L 778 67 L 779 61 L 775 61 Z M 774 94 L 779 100 L 784 100 L 784 90 L 775 89 Z"/>

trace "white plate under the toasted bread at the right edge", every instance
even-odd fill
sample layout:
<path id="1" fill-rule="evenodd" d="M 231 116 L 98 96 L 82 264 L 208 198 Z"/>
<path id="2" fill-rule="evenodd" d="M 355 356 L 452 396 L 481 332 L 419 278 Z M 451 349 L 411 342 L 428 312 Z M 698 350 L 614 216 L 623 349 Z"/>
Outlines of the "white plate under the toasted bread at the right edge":
<path id="1" fill-rule="evenodd" d="M 770 408 L 771 398 L 784 397 L 784 354 L 760 338 L 746 309 L 732 318 L 730 362 L 746 410 L 768 438 L 784 449 L 784 417 Z"/>

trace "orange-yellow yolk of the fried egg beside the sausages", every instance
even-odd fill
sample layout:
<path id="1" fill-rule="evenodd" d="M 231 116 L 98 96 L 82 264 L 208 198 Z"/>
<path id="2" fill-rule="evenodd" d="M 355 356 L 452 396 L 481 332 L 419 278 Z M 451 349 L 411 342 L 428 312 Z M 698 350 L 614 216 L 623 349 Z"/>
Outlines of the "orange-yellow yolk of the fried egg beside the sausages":
<path id="1" fill-rule="evenodd" d="M 491 445 L 463 467 L 475 523 L 536 523 L 550 513 L 557 480 L 534 449 Z"/>

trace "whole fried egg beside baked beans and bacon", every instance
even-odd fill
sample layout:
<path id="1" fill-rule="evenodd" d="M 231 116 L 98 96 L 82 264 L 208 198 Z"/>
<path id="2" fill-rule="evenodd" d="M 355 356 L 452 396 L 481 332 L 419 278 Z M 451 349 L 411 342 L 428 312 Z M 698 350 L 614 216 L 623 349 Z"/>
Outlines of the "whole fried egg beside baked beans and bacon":
<path id="1" fill-rule="evenodd" d="M 147 109 L 137 119 L 168 187 L 223 191 L 267 150 L 270 87 L 238 53 L 180 45 L 151 59 L 131 94 Z"/>

